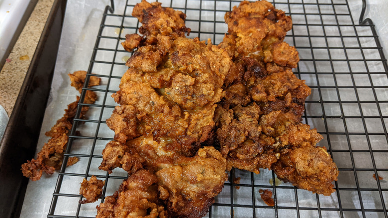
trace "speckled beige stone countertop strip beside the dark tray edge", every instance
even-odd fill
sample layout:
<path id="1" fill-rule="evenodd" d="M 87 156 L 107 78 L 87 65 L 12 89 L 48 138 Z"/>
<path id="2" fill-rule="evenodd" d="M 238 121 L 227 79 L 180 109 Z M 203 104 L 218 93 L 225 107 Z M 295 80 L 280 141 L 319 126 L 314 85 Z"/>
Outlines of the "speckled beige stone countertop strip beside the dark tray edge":
<path id="1" fill-rule="evenodd" d="M 0 72 L 0 105 L 11 115 L 54 0 L 39 0 Z"/>

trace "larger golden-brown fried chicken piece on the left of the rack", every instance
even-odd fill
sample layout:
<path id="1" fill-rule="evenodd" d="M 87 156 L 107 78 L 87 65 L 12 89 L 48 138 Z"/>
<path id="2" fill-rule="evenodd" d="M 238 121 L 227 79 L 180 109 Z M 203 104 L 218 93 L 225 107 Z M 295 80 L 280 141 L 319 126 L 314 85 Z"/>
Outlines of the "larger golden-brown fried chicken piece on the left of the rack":
<path id="1" fill-rule="evenodd" d="M 121 167 L 129 177 L 97 217 L 203 217 L 227 179 L 225 158 L 199 147 L 214 127 L 231 58 L 209 40 L 186 38 L 190 29 L 180 11 L 142 1 L 132 14 L 145 38 L 127 35 L 123 43 L 138 49 L 112 95 L 119 106 L 106 123 L 115 136 L 99 166 L 109 173 Z M 141 193 L 128 183 L 143 187 Z"/>

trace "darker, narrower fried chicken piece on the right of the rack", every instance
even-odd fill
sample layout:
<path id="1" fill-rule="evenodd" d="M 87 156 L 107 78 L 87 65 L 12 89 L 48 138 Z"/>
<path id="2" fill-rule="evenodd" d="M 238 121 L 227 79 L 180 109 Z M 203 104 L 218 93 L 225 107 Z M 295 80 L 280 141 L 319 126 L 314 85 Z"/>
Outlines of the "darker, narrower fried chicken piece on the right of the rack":
<path id="1" fill-rule="evenodd" d="M 229 34 L 218 47 L 228 50 L 233 64 L 214 121 L 228 169 L 273 169 L 285 182 L 330 195 L 336 165 L 316 147 L 322 136 L 300 122 L 311 90 L 291 71 L 299 61 L 283 41 L 291 17 L 265 0 L 242 1 L 225 22 Z"/>

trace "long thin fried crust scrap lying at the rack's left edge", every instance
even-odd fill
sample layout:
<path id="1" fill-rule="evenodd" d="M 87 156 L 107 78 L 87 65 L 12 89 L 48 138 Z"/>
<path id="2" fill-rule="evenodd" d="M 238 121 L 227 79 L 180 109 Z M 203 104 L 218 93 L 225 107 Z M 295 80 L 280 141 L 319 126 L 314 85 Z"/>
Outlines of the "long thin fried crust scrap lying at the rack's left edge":
<path id="1" fill-rule="evenodd" d="M 76 71 L 69 74 L 72 86 L 80 93 L 83 88 L 83 83 L 86 78 L 86 71 Z M 89 80 L 89 87 L 99 85 L 100 78 L 91 77 Z M 84 102 L 93 104 L 97 99 L 96 93 L 87 91 Z M 53 174 L 56 169 L 59 169 L 63 161 L 63 152 L 66 150 L 69 139 L 69 131 L 73 126 L 73 119 L 76 116 L 77 106 L 80 98 L 77 96 L 77 101 L 68 105 L 65 109 L 63 117 L 58 119 L 56 124 L 51 127 L 50 131 L 45 133 L 46 136 L 51 137 L 43 148 L 37 154 L 36 159 L 32 159 L 21 165 L 23 176 L 28 177 L 31 181 L 37 181 L 42 176 L 42 173 Z M 89 107 L 82 107 L 80 118 L 83 118 Z M 69 157 L 67 166 L 71 166 L 78 161 L 78 157 Z"/>

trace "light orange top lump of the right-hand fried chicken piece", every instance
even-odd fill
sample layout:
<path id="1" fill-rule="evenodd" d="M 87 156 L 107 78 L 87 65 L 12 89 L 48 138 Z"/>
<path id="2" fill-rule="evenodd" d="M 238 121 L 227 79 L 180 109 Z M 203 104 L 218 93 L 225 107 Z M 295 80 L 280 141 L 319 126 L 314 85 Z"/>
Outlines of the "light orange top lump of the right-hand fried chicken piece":
<path id="1" fill-rule="evenodd" d="M 299 57 L 295 48 L 282 42 L 292 26 L 291 17 L 284 11 L 275 9 L 266 0 L 242 1 L 226 12 L 224 18 L 229 35 L 225 35 L 220 47 L 230 50 L 230 55 L 254 53 L 265 63 L 274 61 L 278 65 L 296 67 Z"/>

